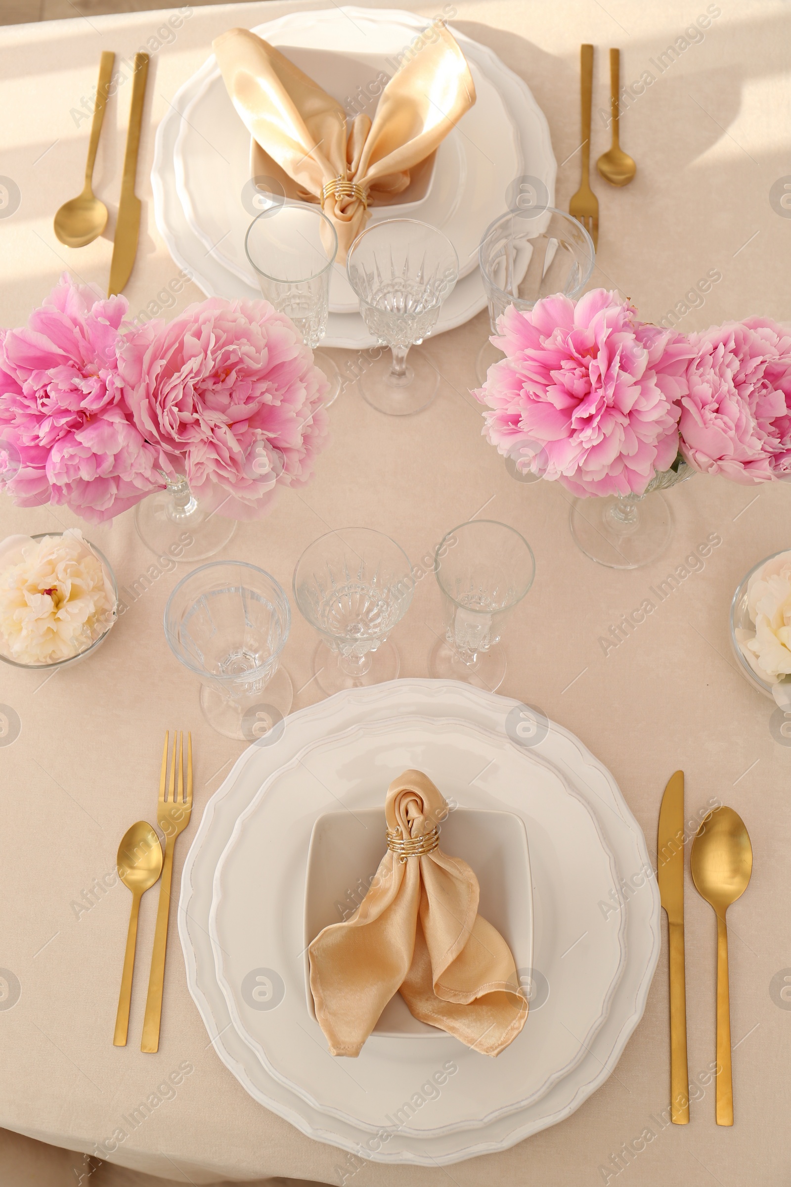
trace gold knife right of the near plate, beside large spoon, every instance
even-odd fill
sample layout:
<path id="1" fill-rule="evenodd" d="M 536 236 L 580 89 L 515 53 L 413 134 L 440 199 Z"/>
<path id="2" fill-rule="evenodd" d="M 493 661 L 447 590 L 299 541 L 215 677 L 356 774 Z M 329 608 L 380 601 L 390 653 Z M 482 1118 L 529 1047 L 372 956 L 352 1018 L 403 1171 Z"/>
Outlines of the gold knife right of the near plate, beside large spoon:
<path id="1" fill-rule="evenodd" d="M 668 780 L 659 808 L 657 881 L 668 913 L 670 952 L 670 1119 L 689 1124 L 687 989 L 684 976 L 684 773 Z"/>

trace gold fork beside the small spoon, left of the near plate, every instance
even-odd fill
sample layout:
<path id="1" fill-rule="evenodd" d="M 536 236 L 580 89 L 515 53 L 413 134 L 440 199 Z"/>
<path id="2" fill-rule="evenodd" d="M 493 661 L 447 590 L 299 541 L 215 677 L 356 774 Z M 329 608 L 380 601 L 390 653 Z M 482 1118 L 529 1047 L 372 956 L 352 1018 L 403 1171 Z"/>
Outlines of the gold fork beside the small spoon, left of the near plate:
<path id="1" fill-rule="evenodd" d="M 157 929 L 154 932 L 154 952 L 151 958 L 148 977 L 148 997 L 146 998 L 146 1017 L 142 1024 L 142 1042 L 140 1050 L 159 1049 L 159 1026 L 162 1016 L 162 984 L 165 980 L 165 950 L 167 947 L 167 920 L 171 906 L 171 877 L 173 875 L 173 846 L 176 838 L 190 823 L 192 812 L 192 735 L 187 734 L 186 795 L 184 794 L 184 734 L 177 737 L 173 730 L 173 754 L 171 757 L 171 777 L 168 795 L 165 794 L 165 776 L 167 774 L 168 731 L 165 731 L 165 749 L 162 750 L 162 769 L 159 776 L 159 801 L 157 804 L 157 824 L 165 833 L 162 849 L 162 880 L 159 883 L 159 906 L 157 908 Z M 176 748 L 179 751 L 179 786 L 176 795 Z"/>

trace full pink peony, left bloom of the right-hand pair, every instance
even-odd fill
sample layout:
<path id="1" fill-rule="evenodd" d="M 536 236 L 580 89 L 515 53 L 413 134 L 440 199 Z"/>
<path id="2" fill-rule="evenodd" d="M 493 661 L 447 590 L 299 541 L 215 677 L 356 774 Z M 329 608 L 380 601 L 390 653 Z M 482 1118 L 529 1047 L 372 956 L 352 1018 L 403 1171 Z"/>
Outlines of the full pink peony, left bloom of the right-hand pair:
<path id="1" fill-rule="evenodd" d="M 500 453 L 540 451 L 542 476 L 576 495 L 642 494 L 672 464 L 690 355 L 681 335 L 644 325 L 604 288 L 511 305 L 498 329 L 506 357 L 474 394 Z"/>

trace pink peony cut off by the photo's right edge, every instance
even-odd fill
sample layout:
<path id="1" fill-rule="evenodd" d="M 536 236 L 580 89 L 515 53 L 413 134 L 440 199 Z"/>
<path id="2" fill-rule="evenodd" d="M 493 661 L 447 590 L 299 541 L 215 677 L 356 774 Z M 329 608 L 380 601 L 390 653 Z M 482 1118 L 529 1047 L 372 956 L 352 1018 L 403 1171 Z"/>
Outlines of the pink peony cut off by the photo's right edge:
<path id="1" fill-rule="evenodd" d="M 766 318 L 693 334 L 681 450 L 734 482 L 791 475 L 791 328 Z"/>

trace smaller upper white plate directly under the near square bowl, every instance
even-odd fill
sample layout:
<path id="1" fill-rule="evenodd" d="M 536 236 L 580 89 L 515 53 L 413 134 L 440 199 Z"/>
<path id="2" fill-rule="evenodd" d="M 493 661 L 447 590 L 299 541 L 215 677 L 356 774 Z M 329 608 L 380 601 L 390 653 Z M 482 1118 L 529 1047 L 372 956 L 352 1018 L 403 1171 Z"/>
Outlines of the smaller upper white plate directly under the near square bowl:
<path id="1" fill-rule="evenodd" d="M 534 960 L 549 998 L 496 1060 L 451 1036 L 404 1041 L 376 1034 L 357 1059 L 327 1060 L 304 991 L 313 824 L 331 806 L 352 817 L 381 807 L 393 779 L 413 768 L 463 807 L 509 811 L 523 820 L 531 848 Z M 481 774 L 471 782 L 471 772 Z M 624 920 L 613 926 L 599 907 L 617 887 L 589 807 L 532 750 L 468 722 L 395 718 L 313 742 L 263 783 L 217 864 L 209 931 L 234 1026 L 267 1072 L 321 1112 L 376 1132 L 409 1100 L 415 1083 L 453 1059 L 453 1092 L 401 1130 L 452 1134 L 525 1107 L 585 1056 L 625 964 Z M 251 970 L 261 967 L 283 983 L 276 1010 L 261 1010 L 244 992 Z"/>

